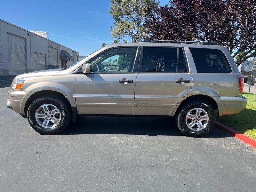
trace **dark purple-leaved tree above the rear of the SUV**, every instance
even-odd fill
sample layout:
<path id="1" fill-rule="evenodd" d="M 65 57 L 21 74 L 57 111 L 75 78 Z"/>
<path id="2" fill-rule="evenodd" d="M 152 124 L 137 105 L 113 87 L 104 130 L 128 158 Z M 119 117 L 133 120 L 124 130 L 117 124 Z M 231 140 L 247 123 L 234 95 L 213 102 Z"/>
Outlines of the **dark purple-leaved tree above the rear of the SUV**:
<path id="1" fill-rule="evenodd" d="M 170 0 L 147 13 L 150 39 L 216 42 L 237 66 L 256 56 L 255 0 Z"/>

